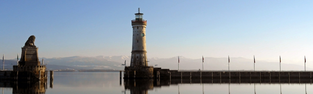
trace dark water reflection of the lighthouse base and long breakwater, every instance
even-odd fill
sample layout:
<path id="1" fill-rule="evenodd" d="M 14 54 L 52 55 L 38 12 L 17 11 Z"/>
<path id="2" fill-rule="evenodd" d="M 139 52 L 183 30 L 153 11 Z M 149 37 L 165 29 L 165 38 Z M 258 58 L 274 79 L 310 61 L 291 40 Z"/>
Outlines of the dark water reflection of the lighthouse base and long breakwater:
<path id="1" fill-rule="evenodd" d="M 203 84 L 228 84 L 228 93 L 231 94 L 230 84 L 242 83 L 254 84 L 254 94 L 256 94 L 257 92 L 255 91 L 255 84 L 279 84 L 281 93 L 281 84 L 305 84 L 306 92 L 306 84 L 311 82 L 311 79 L 125 79 L 124 86 L 126 90 L 130 91 L 130 94 L 148 94 L 148 91 L 153 90 L 154 87 L 177 85 L 179 94 L 180 84 L 202 84 L 202 93 L 204 94 Z"/>

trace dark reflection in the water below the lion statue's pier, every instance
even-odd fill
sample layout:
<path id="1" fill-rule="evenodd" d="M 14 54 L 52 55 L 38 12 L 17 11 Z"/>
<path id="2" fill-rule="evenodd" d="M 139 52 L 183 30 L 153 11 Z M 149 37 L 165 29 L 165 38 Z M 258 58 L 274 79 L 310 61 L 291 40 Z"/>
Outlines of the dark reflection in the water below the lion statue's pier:
<path id="1" fill-rule="evenodd" d="M 45 94 L 47 81 L 0 81 L 0 87 L 13 88 L 12 94 Z"/>

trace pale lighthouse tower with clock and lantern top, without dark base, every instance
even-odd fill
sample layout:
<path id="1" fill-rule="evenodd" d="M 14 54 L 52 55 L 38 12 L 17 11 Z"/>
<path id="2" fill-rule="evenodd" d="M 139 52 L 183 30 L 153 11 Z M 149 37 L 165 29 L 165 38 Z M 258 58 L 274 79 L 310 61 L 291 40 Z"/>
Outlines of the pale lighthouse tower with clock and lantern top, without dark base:
<path id="1" fill-rule="evenodd" d="M 131 20 L 133 28 L 133 44 L 131 50 L 131 66 L 148 66 L 146 51 L 146 25 L 147 21 L 142 19 L 143 13 L 135 14 L 136 19 Z"/>

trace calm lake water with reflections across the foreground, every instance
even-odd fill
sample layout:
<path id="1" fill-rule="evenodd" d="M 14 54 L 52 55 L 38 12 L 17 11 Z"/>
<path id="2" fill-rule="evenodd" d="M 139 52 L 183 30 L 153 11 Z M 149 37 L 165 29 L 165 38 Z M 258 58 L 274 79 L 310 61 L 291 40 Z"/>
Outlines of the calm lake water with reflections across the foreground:
<path id="1" fill-rule="evenodd" d="M 136 79 L 121 80 L 119 72 L 54 72 L 53 85 L 33 82 L 1 83 L 3 94 L 313 94 L 310 80 L 292 83 L 273 79 Z M 49 76 L 48 76 L 49 79 Z M 262 82 L 263 81 L 263 82 Z M 18 85 L 15 85 L 18 84 Z M 46 89 L 44 89 L 46 88 Z"/>

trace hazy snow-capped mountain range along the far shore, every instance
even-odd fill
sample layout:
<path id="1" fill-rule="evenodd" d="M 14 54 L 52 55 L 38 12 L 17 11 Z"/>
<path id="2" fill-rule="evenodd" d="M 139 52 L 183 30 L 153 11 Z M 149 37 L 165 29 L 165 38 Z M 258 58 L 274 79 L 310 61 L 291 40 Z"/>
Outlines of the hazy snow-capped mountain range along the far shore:
<path id="1" fill-rule="evenodd" d="M 44 59 L 44 65 L 48 70 L 95 70 L 112 69 L 123 70 L 122 64 L 126 61 L 126 66 L 130 65 L 130 56 L 96 56 L 81 57 L 72 56 L 64 58 L 39 58 Z M 180 70 L 228 70 L 228 58 L 205 57 L 202 63 L 201 59 L 190 59 L 179 56 Z M 178 70 L 178 57 L 172 58 L 148 58 L 148 65 L 162 67 L 162 69 Z M 4 60 L 5 68 L 12 68 L 17 64 L 17 60 Z M 262 60 L 246 59 L 242 57 L 230 58 L 230 70 L 280 70 L 279 62 L 267 62 Z M 312 70 L 313 62 L 306 63 L 306 70 Z M 203 64 L 203 67 L 202 67 Z M 281 63 L 281 70 L 304 70 L 304 65 Z"/>

